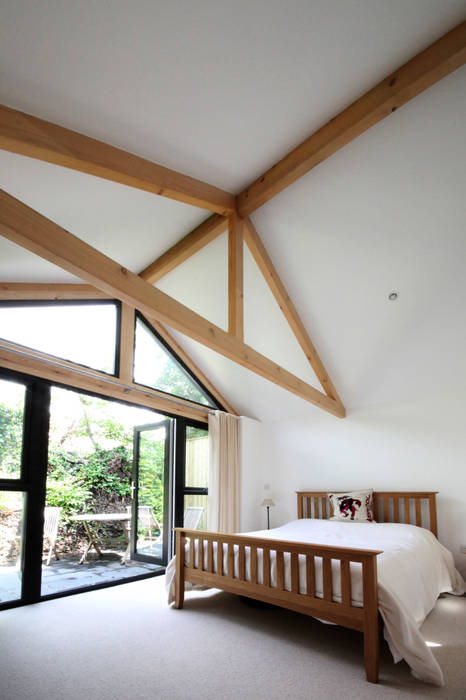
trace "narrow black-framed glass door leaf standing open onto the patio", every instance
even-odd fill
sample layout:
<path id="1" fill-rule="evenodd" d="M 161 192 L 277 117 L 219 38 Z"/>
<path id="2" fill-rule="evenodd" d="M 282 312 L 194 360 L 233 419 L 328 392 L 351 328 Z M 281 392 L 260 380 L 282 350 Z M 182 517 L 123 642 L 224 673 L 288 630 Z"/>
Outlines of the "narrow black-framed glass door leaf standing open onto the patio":
<path id="1" fill-rule="evenodd" d="M 131 558 L 166 566 L 173 420 L 134 429 Z"/>

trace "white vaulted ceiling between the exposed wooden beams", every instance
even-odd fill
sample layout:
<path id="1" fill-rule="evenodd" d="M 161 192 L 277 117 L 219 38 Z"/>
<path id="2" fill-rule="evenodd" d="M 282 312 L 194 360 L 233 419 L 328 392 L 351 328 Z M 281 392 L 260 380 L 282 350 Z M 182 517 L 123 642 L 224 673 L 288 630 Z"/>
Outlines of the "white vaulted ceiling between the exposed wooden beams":
<path id="1" fill-rule="evenodd" d="M 5 5 L 0 102 L 233 192 L 465 18 L 464 0 Z M 466 390 L 465 124 L 462 68 L 253 215 L 349 410 Z M 0 187 L 135 272 L 207 216 L 4 152 Z M 246 342 L 316 384 L 245 266 Z M 71 280 L 0 240 L 0 281 Z M 224 238 L 160 288 L 225 326 Z M 182 342 L 246 415 L 317 410 Z"/>

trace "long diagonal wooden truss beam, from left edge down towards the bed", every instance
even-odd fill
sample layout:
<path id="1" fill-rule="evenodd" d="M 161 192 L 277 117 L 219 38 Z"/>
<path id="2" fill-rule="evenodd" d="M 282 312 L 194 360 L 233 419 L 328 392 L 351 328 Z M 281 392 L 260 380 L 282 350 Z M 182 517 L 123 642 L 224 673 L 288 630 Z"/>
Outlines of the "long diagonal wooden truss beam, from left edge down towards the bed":
<path id="1" fill-rule="evenodd" d="M 0 234 L 55 265 L 77 275 L 123 303 L 155 316 L 215 352 L 278 386 L 333 413 L 344 416 L 334 399 L 306 384 L 207 319 L 156 289 L 42 214 L 0 190 Z"/>

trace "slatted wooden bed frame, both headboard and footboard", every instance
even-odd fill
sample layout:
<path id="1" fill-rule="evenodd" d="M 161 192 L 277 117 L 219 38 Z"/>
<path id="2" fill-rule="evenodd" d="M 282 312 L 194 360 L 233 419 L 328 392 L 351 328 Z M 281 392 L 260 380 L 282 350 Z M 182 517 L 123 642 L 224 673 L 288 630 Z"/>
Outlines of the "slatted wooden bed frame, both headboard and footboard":
<path id="1" fill-rule="evenodd" d="M 327 493 L 339 491 L 298 491 L 298 518 L 328 518 Z M 374 516 L 378 522 L 415 524 L 427 527 L 437 536 L 437 492 L 374 492 Z M 423 507 L 423 504 L 428 507 Z M 428 520 L 428 525 L 425 524 Z M 377 555 L 380 550 L 352 549 L 284 540 L 262 539 L 248 535 L 228 535 L 222 532 L 187 530 L 177 527 L 176 552 L 185 551 L 189 541 L 189 563 L 184 557 L 176 558 L 175 607 L 184 603 L 184 584 L 220 588 L 230 593 L 289 608 L 305 615 L 334 622 L 364 634 L 364 664 L 367 680 L 377 683 L 379 678 L 379 616 L 377 609 Z M 214 555 L 214 543 L 216 552 Z M 224 549 L 225 546 L 225 549 Z M 235 571 L 235 547 L 238 567 Z M 246 551 L 250 557 L 250 581 L 246 580 Z M 262 562 L 258 552 L 262 551 Z M 224 552 L 226 567 L 224 567 Z M 271 585 L 271 552 L 275 552 L 277 585 Z M 285 590 L 284 555 L 291 564 L 291 590 Z M 300 593 L 299 555 L 306 557 L 306 593 Z M 216 570 L 214 570 L 214 556 Z M 322 560 L 323 597 L 315 591 L 315 557 Z M 288 557 L 287 557 L 288 558 Z M 341 602 L 332 598 L 332 560 L 339 565 Z M 352 605 L 350 563 L 362 566 L 363 604 Z M 258 583 L 258 568 L 262 567 L 262 583 Z M 226 570 L 225 570 L 226 568 Z"/>

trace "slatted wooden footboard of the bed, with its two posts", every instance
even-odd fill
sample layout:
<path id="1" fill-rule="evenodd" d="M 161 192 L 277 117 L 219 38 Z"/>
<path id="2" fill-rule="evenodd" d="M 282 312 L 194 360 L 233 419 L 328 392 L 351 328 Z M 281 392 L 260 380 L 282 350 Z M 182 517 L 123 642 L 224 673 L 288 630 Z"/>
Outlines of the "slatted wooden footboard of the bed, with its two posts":
<path id="1" fill-rule="evenodd" d="M 175 528 L 175 531 L 178 555 L 175 575 L 176 608 L 183 607 L 184 584 L 190 581 L 359 630 L 364 634 L 367 680 L 377 682 L 377 555 L 380 551 L 184 528 Z M 187 563 L 180 556 L 184 551 L 189 552 L 186 556 Z M 352 563 L 359 564 L 362 568 L 362 607 L 353 605 L 352 601 Z M 285 587 L 287 578 L 289 584 Z M 316 581 L 321 583 L 319 587 L 322 592 L 319 595 L 316 592 Z M 341 596 L 338 595 L 341 600 L 335 599 L 334 590 L 341 591 Z"/>

